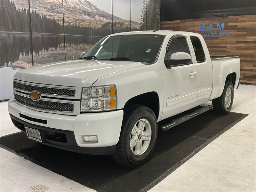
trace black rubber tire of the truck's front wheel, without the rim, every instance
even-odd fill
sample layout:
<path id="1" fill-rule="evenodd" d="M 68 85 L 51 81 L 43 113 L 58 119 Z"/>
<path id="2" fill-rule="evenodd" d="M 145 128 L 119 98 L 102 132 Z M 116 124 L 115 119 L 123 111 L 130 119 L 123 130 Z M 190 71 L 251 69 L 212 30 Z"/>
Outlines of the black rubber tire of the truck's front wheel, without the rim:
<path id="1" fill-rule="evenodd" d="M 151 126 L 151 140 L 148 148 L 141 155 L 134 155 L 130 148 L 130 139 L 133 126 L 140 119 L 146 119 Z M 119 164 L 127 167 L 137 167 L 145 163 L 151 155 L 157 138 L 157 121 L 154 112 L 143 105 L 132 104 L 124 109 L 124 118 L 120 133 L 119 141 L 116 145 L 115 154 L 112 158 Z"/>

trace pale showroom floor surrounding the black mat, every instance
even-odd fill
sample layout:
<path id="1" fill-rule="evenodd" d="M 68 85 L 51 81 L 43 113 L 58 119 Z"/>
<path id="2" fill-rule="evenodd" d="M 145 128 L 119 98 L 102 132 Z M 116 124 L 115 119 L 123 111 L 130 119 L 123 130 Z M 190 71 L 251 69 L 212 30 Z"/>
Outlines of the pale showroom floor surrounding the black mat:
<path id="1" fill-rule="evenodd" d="M 249 114 L 150 191 L 256 192 L 256 86 L 240 85 L 232 112 Z M 0 136 L 18 132 L 0 103 Z M 0 191 L 93 191 L 0 148 Z"/>

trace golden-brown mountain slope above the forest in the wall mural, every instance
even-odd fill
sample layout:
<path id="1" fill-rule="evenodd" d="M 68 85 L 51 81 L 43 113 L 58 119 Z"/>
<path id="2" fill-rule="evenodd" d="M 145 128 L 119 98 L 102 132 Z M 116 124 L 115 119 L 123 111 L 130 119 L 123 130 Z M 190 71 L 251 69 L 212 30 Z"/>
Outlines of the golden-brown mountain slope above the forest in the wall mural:
<path id="1" fill-rule="evenodd" d="M 28 9 L 28 0 L 13 0 L 16 7 Z M 83 27 L 100 27 L 106 22 L 112 21 L 111 13 L 99 9 L 96 5 L 87 0 L 63 0 L 64 19 L 66 23 L 76 23 Z M 62 0 L 30 0 L 31 10 L 46 15 L 50 19 L 62 21 Z M 113 15 L 114 21 L 123 21 L 130 24 L 130 20 L 121 19 Z M 93 22 L 92 22 L 93 21 Z M 133 27 L 139 27 L 138 22 L 132 21 Z"/>

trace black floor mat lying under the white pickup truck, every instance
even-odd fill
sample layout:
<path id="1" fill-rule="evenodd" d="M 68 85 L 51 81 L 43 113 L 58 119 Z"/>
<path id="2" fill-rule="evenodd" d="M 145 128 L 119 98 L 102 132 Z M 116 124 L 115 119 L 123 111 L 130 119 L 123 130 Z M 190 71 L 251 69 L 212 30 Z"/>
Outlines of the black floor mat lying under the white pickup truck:
<path id="1" fill-rule="evenodd" d="M 73 153 L 29 140 L 23 132 L 1 137 L 0 146 L 97 191 L 147 191 L 247 115 L 219 116 L 209 110 L 159 132 L 148 162 L 131 169 L 110 156 Z"/>

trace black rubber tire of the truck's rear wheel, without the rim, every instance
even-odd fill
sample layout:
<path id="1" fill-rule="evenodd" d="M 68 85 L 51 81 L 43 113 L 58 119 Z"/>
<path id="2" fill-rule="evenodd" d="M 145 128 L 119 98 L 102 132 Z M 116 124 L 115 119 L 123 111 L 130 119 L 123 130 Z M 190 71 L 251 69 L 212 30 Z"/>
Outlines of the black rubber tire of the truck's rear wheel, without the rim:
<path id="1" fill-rule="evenodd" d="M 230 100 L 229 106 L 226 107 L 225 106 L 226 92 L 229 88 L 231 90 L 231 100 Z M 220 115 L 227 115 L 228 113 L 230 113 L 230 110 L 233 105 L 233 100 L 234 100 L 234 87 L 231 81 L 227 81 L 221 96 L 212 100 L 213 111 Z"/>

